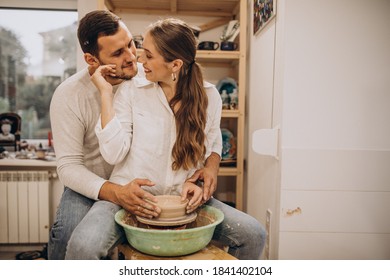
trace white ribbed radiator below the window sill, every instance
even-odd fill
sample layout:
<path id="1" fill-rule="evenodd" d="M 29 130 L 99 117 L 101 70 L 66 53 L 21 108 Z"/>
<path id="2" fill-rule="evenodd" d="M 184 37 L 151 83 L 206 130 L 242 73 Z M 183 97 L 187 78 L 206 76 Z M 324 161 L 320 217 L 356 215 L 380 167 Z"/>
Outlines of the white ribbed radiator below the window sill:
<path id="1" fill-rule="evenodd" d="M 0 171 L 0 243 L 46 243 L 49 171 Z"/>

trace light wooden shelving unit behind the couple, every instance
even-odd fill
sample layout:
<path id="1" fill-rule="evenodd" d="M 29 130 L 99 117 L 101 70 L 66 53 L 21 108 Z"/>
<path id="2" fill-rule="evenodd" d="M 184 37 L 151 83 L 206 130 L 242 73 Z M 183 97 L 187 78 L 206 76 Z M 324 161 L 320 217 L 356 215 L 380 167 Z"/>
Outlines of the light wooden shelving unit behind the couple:
<path id="1" fill-rule="evenodd" d="M 236 166 L 221 166 L 219 177 L 235 177 L 234 197 L 228 198 L 237 209 L 243 210 L 244 193 L 244 125 L 245 125 L 245 92 L 246 92 L 246 23 L 247 1 L 246 0 L 105 0 L 106 7 L 114 13 L 169 15 L 169 16 L 200 16 L 217 17 L 217 20 L 205 22 L 201 28 L 210 30 L 217 26 L 227 24 L 232 19 L 240 21 L 240 34 L 238 38 L 239 48 L 236 51 L 204 51 L 197 52 L 197 61 L 205 68 L 229 68 L 234 73 L 238 84 L 238 109 L 223 110 L 222 121 L 232 126 L 235 132 L 237 151 Z M 205 77 L 207 79 L 207 75 Z M 220 77 L 221 79 L 224 77 Z M 219 182 L 221 180 L 218 180 Z M 218 186 L 219 187 L 219 186 Z M 218 192 L 217 192 L 218 196 Z"/>

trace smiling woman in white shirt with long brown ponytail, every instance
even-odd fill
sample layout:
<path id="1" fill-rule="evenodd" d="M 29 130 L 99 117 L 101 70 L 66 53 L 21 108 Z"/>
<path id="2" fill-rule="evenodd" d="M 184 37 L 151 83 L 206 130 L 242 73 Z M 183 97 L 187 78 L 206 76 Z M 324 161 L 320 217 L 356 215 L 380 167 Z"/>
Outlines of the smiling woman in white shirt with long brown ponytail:
<path id="1" fill-rule="evenodd" d="M 189 197 L 188 212 L 202 203 L 202 189 L 186 180 L 222 149 L 222 101 L 217 89 L 203 82 L 196 44 L 184 22 L 159 21 L 147 31 L 139 58 L 147 80 L 124 82 L 113 97 L 103 76 L 115 77 L 114 66 L 103 66 L 92 77 L 102 95 L 100 150 L 115 164 L 110 180 L 147 178 L 155 186 L 144 189 L 154 195 Z M 143 214 L 152 217 L 148 209 Z"/>

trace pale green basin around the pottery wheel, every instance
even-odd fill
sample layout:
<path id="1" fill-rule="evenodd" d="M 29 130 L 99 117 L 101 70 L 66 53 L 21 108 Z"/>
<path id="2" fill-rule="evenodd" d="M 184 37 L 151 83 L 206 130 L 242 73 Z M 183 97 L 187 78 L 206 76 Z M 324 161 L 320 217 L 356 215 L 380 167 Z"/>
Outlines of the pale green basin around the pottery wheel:
<path id="1" fill-rule="evenodd" d="M 115 221 L 125 231 L 127 241 L 136 250 L 154 256 L 184 256 L 206 247 L 214 230 L 224 219 L 222 211 L 204 205 L 196 219 L 185 229 L 151 229 L 126 210 L 115 214 Z"/>

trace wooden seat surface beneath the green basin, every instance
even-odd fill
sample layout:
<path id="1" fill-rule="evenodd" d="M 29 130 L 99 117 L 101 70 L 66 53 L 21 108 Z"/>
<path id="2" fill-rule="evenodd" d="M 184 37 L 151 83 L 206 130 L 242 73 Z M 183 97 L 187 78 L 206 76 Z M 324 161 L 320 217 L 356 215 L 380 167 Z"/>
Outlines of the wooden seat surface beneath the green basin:
<path id="1" fill-rule="evenodd" d="M 207 245 L 202 250 L 186 256 L 178 257 L 156 257 L 141 253 L 131 247 L 129 244 L 118 245 L 119 254 L 122 254 L 125 260 L 237 260 L 224 250 L 213 244 Z"/>

